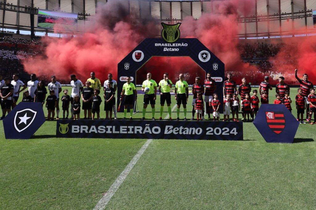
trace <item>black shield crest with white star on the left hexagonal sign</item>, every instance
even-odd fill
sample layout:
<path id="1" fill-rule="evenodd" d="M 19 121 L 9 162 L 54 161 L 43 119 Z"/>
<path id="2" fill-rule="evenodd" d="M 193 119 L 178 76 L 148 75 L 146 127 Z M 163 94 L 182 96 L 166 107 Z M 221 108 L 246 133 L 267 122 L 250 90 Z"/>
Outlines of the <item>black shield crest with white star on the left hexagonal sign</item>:
<path id="1" fill-rule="evenodd" d="M 21 111 L 17 111 L 14 117 L 14 128 L 19 133 L 27 129 L 35 119 L 36 111 L 31 109 L 23 109 Z"/>

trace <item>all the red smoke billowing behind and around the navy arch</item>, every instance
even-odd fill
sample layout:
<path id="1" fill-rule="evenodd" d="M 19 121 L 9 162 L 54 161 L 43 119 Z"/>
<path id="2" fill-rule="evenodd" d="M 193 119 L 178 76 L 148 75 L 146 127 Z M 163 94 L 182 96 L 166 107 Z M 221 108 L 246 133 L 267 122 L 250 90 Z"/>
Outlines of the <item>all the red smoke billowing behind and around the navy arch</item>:
<path id="1" fill-rule="evenodd" d="M 211 5 L 211 4 L 210 4 Z M 214 6 L 211 14 L 203 13 L 198 20 L 186 17 L 180 26 L 181 37 L 197 37 L 219 59 L 225 63 L 226 71 L 251 72 L 257 70 L 253 65 L 243 63 L 237 50 L 239 32 L 237 17 L 250 15 L 255 7 L 255 0 L 229 0 Z M 85 32 L 69 39 L 44 39 L 45 54 L 41 57 L 24 61 L 27 72 L 50 76 L 55 74 L 58 79 L 69 78 L 75 73 L 79 79 L 85 80 L 90 71 L 96 72 L 101 81 L 107 79 L 111 72 L 117 78 L 117 64 L 137 46 L 145 37 L 155 37 L 160 34 L 159 25 L 150 19 L 146 22 L 135 21 L 133 9 L 129 12 L 126 1 L 108 1 L 99 5 L 94 20 L 86 21 Z M 272 40 L 272 39 L 271 39 Z M 272 41 L 273 42 L 273 41 Z M 287 43 L 287 38 L 284 38 Z M 295 50 L 284 48 L 271 58 L 280 71 L 294 72 L 299 68 L 300 73 L 307 72 L 316 78 L 315 39 L 306 38 L 295 44 Z M 290 43 L 289 43 L 290 46 Z M 297 48 L 297 51 L 296 51 Z M 284 64 L 284 54 L 290 53 L 291 64 Z M 170 66 L 170 64 L 174 64 Z M 137 83 L 145 79 L 146 72 L 151 72 L 155 80 L 168 71 L 173 81 L 178 73 L 186 73 L 194 81 L 196 72 L 201 69 L 190 58 L 155 57 L 137 72 Z M 198 75 L 203 77 L 204 75 Z M 277 77 L 278 75 L 276 75 Z M 281 76 L 281 75 L 280 75 Z M 292 75 L 291 77 L 294 77 Z M 263 74 L 258 75 L 258 81 Z M 293 80 L 293 78 L 291 78 Z M 239 78 L 235 78 L 239 82 Z M 255 82 L 255 81 L 251 81 Z M 272 81 L 271 81 L 272 82 Z"/>

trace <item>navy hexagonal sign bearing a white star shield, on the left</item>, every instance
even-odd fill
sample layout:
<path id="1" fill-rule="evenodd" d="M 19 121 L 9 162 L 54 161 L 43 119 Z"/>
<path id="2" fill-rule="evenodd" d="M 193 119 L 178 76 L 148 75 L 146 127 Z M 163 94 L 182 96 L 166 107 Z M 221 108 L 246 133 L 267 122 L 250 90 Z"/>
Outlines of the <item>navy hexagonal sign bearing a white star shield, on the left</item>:
<path id="1" fill-rule="evenodd" d="M 29 139 L 45 122 L 44 111 L 39 102 L 20 102 L 3 119 L 6 139 Z"/>

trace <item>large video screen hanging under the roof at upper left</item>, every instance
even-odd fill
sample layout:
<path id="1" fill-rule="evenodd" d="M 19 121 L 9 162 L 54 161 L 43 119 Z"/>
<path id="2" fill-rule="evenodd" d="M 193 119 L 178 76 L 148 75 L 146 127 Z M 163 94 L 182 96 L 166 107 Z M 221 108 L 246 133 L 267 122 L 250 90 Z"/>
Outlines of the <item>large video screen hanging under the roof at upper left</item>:
<path id="1" fill-rule="evenodd" d="M 77 29 L 78 14 L 39 9 L 37 27 L 58 30 L 74 31 Z"/>

